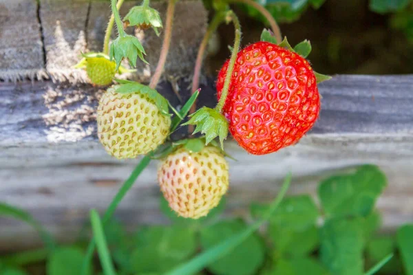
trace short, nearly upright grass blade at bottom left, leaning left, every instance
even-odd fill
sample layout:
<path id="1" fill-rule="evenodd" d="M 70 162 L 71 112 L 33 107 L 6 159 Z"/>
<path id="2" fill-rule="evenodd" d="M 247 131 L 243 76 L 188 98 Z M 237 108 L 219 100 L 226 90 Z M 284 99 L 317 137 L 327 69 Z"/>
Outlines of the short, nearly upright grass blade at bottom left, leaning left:
<path id="1" fill-rule="evenodd" d="M 92 223 L 93 235 L 96 240 L 96 246 L 98 248 L 100 264 L 102 265 L 103 272 L 105 275 L 115 275 L 116 272 L 114 269 L 114 263 L 112 263 L 109 250 L 107 249 L 103 225 L 100 221 L 98 212 L 94 209 L 90 211 L 90 221 Z"/>

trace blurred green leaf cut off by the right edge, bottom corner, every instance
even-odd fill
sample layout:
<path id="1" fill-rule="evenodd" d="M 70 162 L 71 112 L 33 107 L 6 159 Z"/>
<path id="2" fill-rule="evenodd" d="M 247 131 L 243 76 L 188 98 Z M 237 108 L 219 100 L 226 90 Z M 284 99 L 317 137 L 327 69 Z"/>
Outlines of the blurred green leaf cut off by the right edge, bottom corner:
<path id="1" fill-rule="evenodd" d="M 406 275 L 413 275 L 413 223 L 397 230 L 397 245 Z"/>

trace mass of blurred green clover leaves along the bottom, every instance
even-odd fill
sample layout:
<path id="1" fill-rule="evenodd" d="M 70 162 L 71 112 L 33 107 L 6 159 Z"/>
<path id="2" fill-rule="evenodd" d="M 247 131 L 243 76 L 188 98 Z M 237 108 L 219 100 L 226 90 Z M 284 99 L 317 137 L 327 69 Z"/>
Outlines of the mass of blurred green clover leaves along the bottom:
<path id="1" fill-rule="evenodd" d="M 377 166 L 365 165 L 322 180 L 320 208 L 309 195 L 286 197 L 260 233 L 248 235 L 205 266 L 205 271 L 217 275 L 361 275 L 394 254 L 378 274 L 412 275 L 413 225 L 402 226 L 396 236 L 377 233 L 381 218 L 374 204 L 386 184 Z M 246 230 L 245 220 L 220 217 L 224 205 L 223 200 L 207 217 L 191 220 L 176 216 L 162 198 L 160 209 L 171 225 L 142 226 L 131 234 L 112 221 L 105 227 L 105 237 L 118 274 L 164 274 Z M 268 204 L 253 203 L 250 209 L 251 219 L 261 219 Z M 16 209 L 18 217 L 22 211 Z M 82 245 L 62 245 L 42 253 L 44 273 L 39 274 L 65 275 L 78 274 L 85 250 Z M 30 256 L 31 262 L 22 259 L 24 255 L 29 254 L 1 256 L 0 275 L 31 274 L 25 267 L 42 259 Z M 97 262 L 89 274 L 103 274 Z"/>

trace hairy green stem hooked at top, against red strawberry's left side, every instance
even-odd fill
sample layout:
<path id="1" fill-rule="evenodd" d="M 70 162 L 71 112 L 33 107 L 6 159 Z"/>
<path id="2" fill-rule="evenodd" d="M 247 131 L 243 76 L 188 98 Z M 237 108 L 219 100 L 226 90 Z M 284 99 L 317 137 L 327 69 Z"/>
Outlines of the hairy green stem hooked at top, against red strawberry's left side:
<path id="1" fill-rule="evenodd" d="M 225 76 L 225 82 L 224 82 L 224 88 L 222 89 L 222 94 L 220 101 L 217 104 L 217 111 L 220 113 L 222 112 L 222 108 L 224 107 L 226 96 L 228 96 L 228 89 L 229 89 L 229 83 L 231 83 L 231 76 L 233 73 L 233 69 L 235 66 L 235 61 L 237 59 L 237 54 L 238 51 L 240 50 L 240 43 L 241 43 L 241 24 L 240 20 L 238 19 L 237 15 L 232 10 L 229 10 L 226 13 L 226 18 L 227 20 L 231 20 L 234 24 L 235 28 L 235 41 L 234 41 L 234 47 L 233 51 L 231 54 L 231 58 L 229 60 L 229 65 L 228 65 L 228 70 L 226 71 L 226 76 Z"/>

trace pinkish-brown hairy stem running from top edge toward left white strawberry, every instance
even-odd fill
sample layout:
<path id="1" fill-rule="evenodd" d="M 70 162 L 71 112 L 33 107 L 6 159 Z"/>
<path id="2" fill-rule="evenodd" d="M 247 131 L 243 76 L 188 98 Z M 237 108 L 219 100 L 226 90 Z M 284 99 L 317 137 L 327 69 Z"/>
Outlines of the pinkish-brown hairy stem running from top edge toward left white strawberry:
<path id="1" fill-rule="evenodd" d="M 158 61 L 158 65 L 156 65 L 155 73 L 152 76 L 151 83 L 149 83 L 149 87 L 151 87 L 152 89 L 155 89 L 156 85 L 158 85 L 160 76 L 162 75 L 162 71 L 165 66 L 165 62 L 167 61 L 169 45 L 171 45 L 173 13 L 175 12 L 176 2 L 177 0 L 169 0 L 169 3 L 168 3 L 167 20 L 166 20 L 167 22 L 165 24 L 165 34 L 164 34 L 164 40 L 162 42 L 162 49 L 160 50 L 159 61 Z"/>

